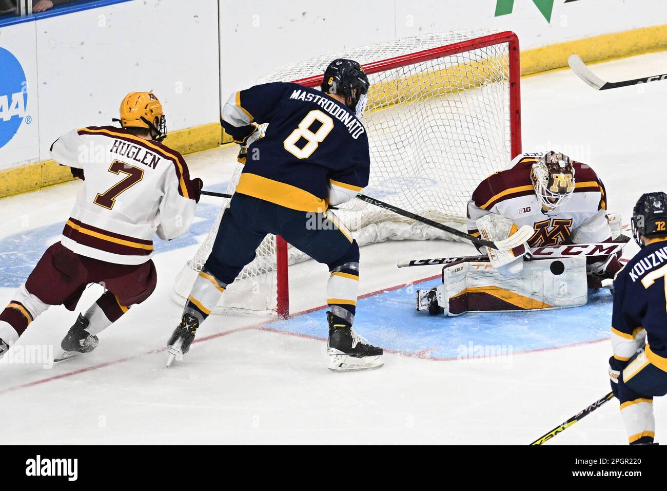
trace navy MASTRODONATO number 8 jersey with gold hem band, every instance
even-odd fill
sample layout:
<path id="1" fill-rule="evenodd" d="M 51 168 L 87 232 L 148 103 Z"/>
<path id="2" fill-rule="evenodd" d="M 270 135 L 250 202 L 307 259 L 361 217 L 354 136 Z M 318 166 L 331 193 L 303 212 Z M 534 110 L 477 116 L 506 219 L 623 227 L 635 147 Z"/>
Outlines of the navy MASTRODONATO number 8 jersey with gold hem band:
<path id="1" fill-rule="evenodd" d="M 253 142 L 236 192 L 287 208 L 323 211 L 329 186 L 368 185 L 368 136 L 354 112 L 318 90 L 274 82 L 241 90 L 250 122 L 269 123 Z"/>

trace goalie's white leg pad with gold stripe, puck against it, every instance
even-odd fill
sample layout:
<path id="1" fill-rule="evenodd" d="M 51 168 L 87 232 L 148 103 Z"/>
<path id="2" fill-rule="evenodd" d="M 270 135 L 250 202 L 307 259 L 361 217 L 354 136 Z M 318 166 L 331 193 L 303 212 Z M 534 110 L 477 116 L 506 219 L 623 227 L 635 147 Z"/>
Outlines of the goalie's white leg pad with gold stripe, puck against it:
<path id="1" fill-rule="evenodd" d="M 487 262 L 448 265 L 437 291 L 440 307 L 450 316 L 577 307 L 588 301 L 586 259 L 526 261 L 516 278 L 504 277 Z"/>

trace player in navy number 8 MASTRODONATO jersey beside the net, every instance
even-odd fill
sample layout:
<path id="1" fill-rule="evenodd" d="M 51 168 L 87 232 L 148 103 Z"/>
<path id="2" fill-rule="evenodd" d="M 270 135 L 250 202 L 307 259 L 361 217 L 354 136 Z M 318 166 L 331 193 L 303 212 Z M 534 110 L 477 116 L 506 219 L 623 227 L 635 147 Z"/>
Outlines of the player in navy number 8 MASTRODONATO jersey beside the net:
<path id="1" fill-rule="evenodd" d="M 318 90 L 275 82 L 231 95 L 221 114 L 241 145 L 243 172 L 222 216 L 211 255 L 189 295 L 181 323 L 167 342 L 180 357 L 227 285 L 255 257 L 267 234 L 282 236 L 327 265 L 329 368 L 380 367 L 382 348 L 352 330 L 359 284 L 359 247 L 327 208 L 368 185 L 368 136 L 359 120 L 368 77 L 356 61 L 336 59 Z M 269 123 L 265 135 L 259 124 Z M 312 220 L 318 215 L 317 220 Z M 309 224 L 322 224 L 313 228 Z"/>

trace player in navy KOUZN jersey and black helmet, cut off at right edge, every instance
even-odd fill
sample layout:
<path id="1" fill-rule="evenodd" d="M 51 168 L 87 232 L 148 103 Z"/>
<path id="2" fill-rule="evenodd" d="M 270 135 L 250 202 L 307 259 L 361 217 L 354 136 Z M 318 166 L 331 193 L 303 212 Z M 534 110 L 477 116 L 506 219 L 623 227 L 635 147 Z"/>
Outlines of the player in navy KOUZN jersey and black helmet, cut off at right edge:
<path id="1" fill-rule="evenodd" d="M 654 444 L 653 397 L 667 394 L 667 194 L 643 194 L 632 232 L 642 250 L 614 280 L 609 375 L 630 445 Z"/>

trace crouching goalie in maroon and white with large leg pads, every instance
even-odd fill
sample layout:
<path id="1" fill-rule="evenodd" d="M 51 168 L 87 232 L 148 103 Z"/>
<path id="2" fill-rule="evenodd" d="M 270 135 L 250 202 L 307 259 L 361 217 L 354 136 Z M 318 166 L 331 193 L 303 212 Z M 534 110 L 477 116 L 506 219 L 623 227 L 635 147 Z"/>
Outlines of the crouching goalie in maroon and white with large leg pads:
<path id="1" fill-rule="evenodd" d="M 479 247 L 484 261 L 446 265 L 442 285 L 417 292 L 417 309 L 454 316 L 584 305 L 588 288 L 599 289 L 621 269 L 616 255 L 536 259 L 528 253 L 531 247 L 611 242 L 620 218 L 608 217 L 606 208 L 604 185 L 590 166 L 553 151 L 518 155 L 473 192 L 468 233 L 496 241 L 530 225 L 534 234 L 511 251 Z"/>

